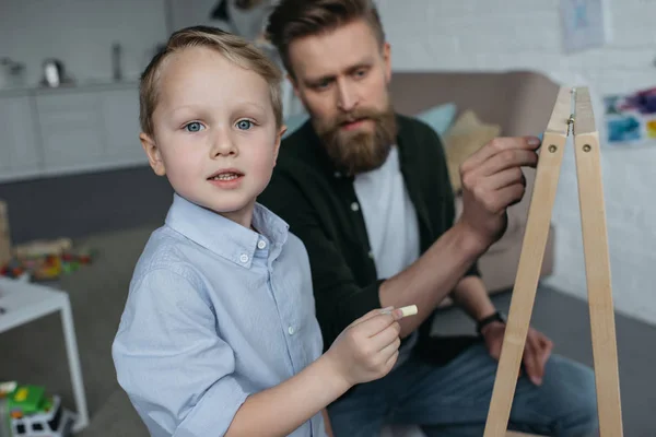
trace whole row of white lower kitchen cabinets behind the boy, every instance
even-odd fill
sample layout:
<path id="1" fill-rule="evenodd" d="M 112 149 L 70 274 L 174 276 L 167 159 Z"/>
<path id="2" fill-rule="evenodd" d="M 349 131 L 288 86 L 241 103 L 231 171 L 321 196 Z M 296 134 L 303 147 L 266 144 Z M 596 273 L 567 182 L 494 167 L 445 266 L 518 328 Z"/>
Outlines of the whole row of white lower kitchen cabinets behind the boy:
<path id="1" fill-rule="evenodd" d="M 0 93 L 0 182 L 147 165 L 137 83 Z"/>

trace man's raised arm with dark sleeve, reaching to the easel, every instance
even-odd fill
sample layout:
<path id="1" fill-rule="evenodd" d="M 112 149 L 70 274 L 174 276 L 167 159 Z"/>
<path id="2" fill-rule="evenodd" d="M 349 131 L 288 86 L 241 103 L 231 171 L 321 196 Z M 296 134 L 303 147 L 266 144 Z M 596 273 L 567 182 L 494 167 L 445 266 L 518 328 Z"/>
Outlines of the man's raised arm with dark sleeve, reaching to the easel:
<path id="1" fill-rule="evenodd" d="M 417 316 L 399 321 L 401 338 L 425 321 L 500 237 L 505 226 L 505 209 L 524 194 L 520 167 L 535 167 L 536 149 L 537 144 L 529 144 L 526 139 L 501 139 L 475 153 L 461 169 L 464 211 L 459 221 L 408 269 L 365 286 L 356 283 L 338 237 L 328 232 L 331 218 L 323 218 L 330 216 L 330 209 L 336 206 L 327 204 L 319 211 L 320 205 L 311 200 L 316 194 L 307 192 L 303 182 L 290 174 L 295 169 L 279 169 L 259 201 L 285 220 L 307 249 L 325 345 L 373 308 L 417 305 Z"/>

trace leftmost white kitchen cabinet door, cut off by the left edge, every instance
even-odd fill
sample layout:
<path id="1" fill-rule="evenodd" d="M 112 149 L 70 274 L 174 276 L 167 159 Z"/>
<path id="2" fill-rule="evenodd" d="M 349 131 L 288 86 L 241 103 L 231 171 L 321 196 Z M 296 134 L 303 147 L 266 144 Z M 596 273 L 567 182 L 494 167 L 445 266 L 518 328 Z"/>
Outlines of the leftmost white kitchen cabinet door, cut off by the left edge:
<path id="1" fill-rule="evenodd" d="M 34 125 L 34 97 L 0 98 L 0 181 L 38 173 L 42 150 Z"/>

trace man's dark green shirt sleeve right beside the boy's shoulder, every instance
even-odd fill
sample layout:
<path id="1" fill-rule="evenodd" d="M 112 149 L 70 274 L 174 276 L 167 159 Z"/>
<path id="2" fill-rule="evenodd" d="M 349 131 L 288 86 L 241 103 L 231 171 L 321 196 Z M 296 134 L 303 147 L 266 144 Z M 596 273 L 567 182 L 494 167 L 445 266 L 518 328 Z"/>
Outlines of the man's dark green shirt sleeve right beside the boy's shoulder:
<path id="1" fill-rule="evenodd" d="M 383 280 L 360 286 L 351 267 L 325 231 L 316 209 L 296 182 L 283 172 L 274 175 L 260 201 L 282 216 L 290 232 L 305 245 L 309 256 L 317 320 L 324 350 L 353 322 L 380 307 L 378 291 Z"/>

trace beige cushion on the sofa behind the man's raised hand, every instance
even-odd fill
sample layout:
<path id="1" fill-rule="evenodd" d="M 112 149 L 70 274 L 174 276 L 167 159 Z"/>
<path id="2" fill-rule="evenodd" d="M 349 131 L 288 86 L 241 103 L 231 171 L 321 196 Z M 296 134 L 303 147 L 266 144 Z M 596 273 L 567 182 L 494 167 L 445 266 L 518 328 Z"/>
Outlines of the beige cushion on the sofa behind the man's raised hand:
<path id="1" fill-rule="evenodd" d="M 501 126 L 482 122 L 471 110 L 462 113 L 456 119 L 444 135 L 444 149 L 454 192 L 459 192 L 461 188 L 460 165 L 500 134 Z"/>

